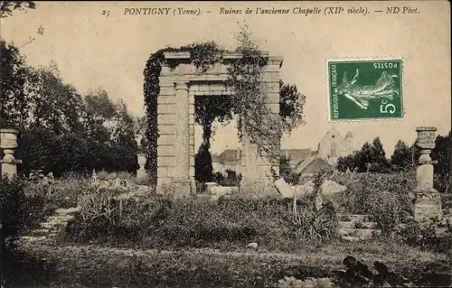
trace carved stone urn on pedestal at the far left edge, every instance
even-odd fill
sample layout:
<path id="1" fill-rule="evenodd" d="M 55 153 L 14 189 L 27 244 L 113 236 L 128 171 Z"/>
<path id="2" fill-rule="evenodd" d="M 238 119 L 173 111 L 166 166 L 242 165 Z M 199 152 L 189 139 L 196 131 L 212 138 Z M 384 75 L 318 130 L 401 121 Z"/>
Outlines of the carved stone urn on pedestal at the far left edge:
<path id="1" fill-rule="evenodd" d="M 5 156 L 2 163 L 2 175 L 6 177 L 14 177 L 17 175 L 17 164 L 22 163 L 21 160 L 14 158 L 14 149 L 17 148 L 18 131 L 14 129 L 0 129 L 0 149 L 3 149 Z"/>

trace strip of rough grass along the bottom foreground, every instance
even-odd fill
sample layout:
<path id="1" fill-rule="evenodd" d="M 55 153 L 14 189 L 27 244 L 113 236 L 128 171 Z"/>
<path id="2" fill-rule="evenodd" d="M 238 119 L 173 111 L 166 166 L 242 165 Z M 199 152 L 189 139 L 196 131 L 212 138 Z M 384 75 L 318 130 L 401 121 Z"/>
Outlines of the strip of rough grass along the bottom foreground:
<path id="1" fill-rule="evenodd" d="M 26 280 L 14 287 L 271 287 L 284 276 L 332 276 L 342 269 L 346 255 L 365 263 L 383 261 L 406 276 L 421 274 L 431 263 L 445 261 L 444 255 L 422 252 L 408 246 L 381 242 L 337 241 L 326 246 L 309 246 L 293 253 L 215 249 L 181 250 L 127 249 L 99 246 L 21 246 L 35 259 L 48 259 L 48 278 L 43 279 L 42 262 L 34 260 L 33 275 L 15 269 L 15 276 Z M 41 267 L 39 266 L 41 265 Z M 15 267 L 16 268 L 16 267 Z M 39 275 L 41 273 L 41 276 Z M 11 277 L 11 274 L 9 274 Z M 61 283 L 61 286 L 57 284 Z M 72 286 L 64 285 L 71 283 Z M 53 286 L 52 286 L 53 284 Z M 31 287 L 31 286 L 28 286 Z M 42 286 L 43 287 L 43 286 Z"/>

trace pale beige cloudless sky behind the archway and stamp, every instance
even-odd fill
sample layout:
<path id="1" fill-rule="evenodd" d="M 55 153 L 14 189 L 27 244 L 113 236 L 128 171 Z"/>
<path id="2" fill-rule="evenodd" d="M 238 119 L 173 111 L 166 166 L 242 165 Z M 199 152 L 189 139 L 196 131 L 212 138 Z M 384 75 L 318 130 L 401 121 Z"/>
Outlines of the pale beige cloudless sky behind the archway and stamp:
<path id="1" fill-rule="evenodd" d="M 451 129 L 450 6 L 446 1 L 404 1 L 403 6 L 418 8 L 415 14 L 243 14 L 247 7 L 293 11 L 339 5 L 345 11 L 402 8 L 400 2 L 38 2 L 36 10 L 2 19 L 0 34 L 18 46 L 34 37 L 21 49 L 29 65 L 49 65 L 54 60 L 64 81 L 81 94 L 105 88 L 111 98 L 123 98 L 130 113 L 142 116 L 143 70 L 152 52 L 205 41 L 234 49 L 238 22 L 246 21 L 262 50 L 284 57 L 281 79 L 306 95 L 306 125 L 285 135 L 282 148 L 315 150 L 333 127 L 342 135 L 352 131 L 358 146 L 379 136 L 388 154 L 399 139 L 412 143 L 417 126 L 436 126 L 438 134 L 446 135 Z M 202 14 L 124 14 L 132 7 L 199 8 Z M 220 14 L 221 7 L 241 9 L 242 14 Z M 36 33 L 39 26 L 43 35 Z M 329 122 L 326 60 L 388 55 L 400 56 L 404 62 L 404 119 Z M 216 126 L 212 152 L 237 147 L 233 123 Z M 200 133 L 198 127 L 197 143 Z"/>

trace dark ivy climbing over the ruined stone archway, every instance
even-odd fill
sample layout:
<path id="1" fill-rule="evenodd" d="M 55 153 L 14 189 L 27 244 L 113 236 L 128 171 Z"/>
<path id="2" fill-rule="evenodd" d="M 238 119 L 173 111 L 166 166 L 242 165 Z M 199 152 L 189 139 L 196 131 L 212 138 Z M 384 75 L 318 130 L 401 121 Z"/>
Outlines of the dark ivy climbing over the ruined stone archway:
<path id="1" fill-rule="evenodd" d="M 202 125 L 203 146 L 209 149 L 212 136 L 212 123 L 215 119 L 228 122 L 233 115 L 238 116 L 238 133 L 245 133 L 250 142 L 256 144 L 259 154 L 278 159 L 279 139 L 283 129 L 290 131 L 302 121 L 299 115 L 303 111 L 304 96 L 297 88 L 286 86 L 281 91 L 290 93 L 280 96 L 280 113 L 270 111 L 266 103 L 267 95 L 262 93 L 261 68 L 266 65 L 258 45 L 252 41 L 248 26 L 243 25 L 236 34 L 239 42 L 237 52 L 242 57 L 233 61 L 228 68 L 229 78 L 226 85 L 233 89 L 233 97 L 198 97 L 195 100 L 195 121 Z M 185 51 L 190 53 L 191 63 L 202 72 L 209 70 L 213 64 L 221 62 L 225 52 L 215 42 L 193 43 L 180 48 L 161 49 L 151 54 L 144 70 L 144 94 L 147 116 L 146 138 L 148 139 L 148 163 L 146 169 L 152 181 L 157 174 L 157 97 L 160 93 L 159 76 L 165 61 L 165 52 Z M 165 63 L 172 65 L 172 63 Z M 171 66 L 170 66 L 171 67 Z M 286 101 L 288 99 L 288 101 Z M 284 108 L 281 110 L 281 108 Z M 287 120 L 289 119 L 289 120 Z"/>

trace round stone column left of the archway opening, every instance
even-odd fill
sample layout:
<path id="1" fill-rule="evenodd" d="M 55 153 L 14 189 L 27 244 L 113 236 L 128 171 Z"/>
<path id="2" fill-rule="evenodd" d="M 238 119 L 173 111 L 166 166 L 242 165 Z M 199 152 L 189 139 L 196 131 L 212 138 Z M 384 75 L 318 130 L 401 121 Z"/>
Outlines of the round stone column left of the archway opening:
<path id="1" fill-rule="evenodd" d="M 193 188 L 190 180 L 190 113 L 188 84 L 175 82 L 176 123 L 175 123 L 175 172 L 176 195 L 189 195 Z"/>

